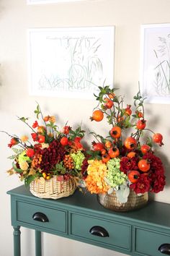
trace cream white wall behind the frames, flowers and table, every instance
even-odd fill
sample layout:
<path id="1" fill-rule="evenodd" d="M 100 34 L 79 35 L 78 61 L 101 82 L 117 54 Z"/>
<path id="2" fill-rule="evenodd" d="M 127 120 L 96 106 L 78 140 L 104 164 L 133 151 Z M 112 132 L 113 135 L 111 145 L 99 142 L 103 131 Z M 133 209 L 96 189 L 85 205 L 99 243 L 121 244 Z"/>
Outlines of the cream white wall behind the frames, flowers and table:
<path id="1" fill-rule="evenodd" d="M 29 27 L 79 27 L 115 25 L 115 83 L 127 101 L 138 91 L 140 63 L 140 25 L 170 22 L 169 0 L 87 0 L 67 4 L 28 6 L 26 0 L 0 1 L 0 124 L 1 130 L 22 135 L 26 127 L 16 116 L 32 116 L 38 101 L 45 113 L 58 116 L 58 124 L 68 119 L 70 124 L 82 120 L 90 129 L 104 132 L 104 123 L 89 121 L 95 101 L 66 98 L 43 98 L 28 95 L 27 33 Z M 69 107 L 68 107 L 69 106 Z M 169 187 L 169 129 L 170 105 L 146 104 L 148 125 L 164 135 L 161 155 L 166 166 L 167 185 L 155 200 L 170 203 Z M 76 113 L 76 114 L 75 114 Z M 10 201 L 6 191 L 19 186 L 17 176 L 9 177 L 6 159 L 11 150 L 6 147 L 9 137 L 0 133 L 1 145 L 1 210 L 0 255 L 12 256 L 12 227 Z M 160 151 L 159 151 L 160 152 Z M 44 235 L 44 256 L 120 255 L 107 249 Z M 34 255 L 34 235 L 22 229 L 22 256 Z"/>

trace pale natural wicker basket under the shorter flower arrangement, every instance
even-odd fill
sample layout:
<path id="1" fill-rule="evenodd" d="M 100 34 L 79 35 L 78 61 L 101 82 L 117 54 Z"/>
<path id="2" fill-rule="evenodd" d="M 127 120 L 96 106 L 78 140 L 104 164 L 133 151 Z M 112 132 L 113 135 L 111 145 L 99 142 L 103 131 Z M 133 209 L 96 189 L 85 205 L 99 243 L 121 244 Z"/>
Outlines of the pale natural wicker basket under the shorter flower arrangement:
<path id="1" fill-rule="evenodd" d="M 73 178 L 68 180 L 58 181 L 57 176 L 49 180 L 38 179 L 30 184 L 30 192 L 35 197 L 58 199 L 68 197 L 76 190 L 76 182 Z"/>

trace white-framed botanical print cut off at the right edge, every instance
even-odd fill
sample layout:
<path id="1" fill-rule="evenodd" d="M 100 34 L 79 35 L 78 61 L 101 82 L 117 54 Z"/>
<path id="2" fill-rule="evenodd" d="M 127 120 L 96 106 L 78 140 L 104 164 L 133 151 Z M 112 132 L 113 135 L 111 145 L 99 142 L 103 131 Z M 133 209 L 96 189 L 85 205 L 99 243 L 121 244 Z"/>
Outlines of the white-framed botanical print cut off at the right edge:
<path id="1" fill-rule="evenodd" d="M 170 103 L 170 23 L 141 25 L 140 88 L 147 103 Z"/>

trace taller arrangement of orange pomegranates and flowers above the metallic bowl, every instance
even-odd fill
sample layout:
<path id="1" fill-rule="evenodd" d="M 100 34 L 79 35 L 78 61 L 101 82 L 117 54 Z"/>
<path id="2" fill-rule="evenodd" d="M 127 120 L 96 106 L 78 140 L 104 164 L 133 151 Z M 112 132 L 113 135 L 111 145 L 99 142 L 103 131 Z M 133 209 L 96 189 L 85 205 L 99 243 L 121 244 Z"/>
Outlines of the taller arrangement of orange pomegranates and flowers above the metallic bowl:
<path id="1" fill-rule="evenodd" d="M 160 133 L 147 128 L 140 91 L 134 97 L 134 106 L 124 106 L 124 98 L 116 95 L 116 90 L 99 87 L 99 95 L 95 95 L 98 105 L 90 119 L 102 121 L 105 116 L 111 128 L 107 137 L 91 132 L 95 141 L 88 151 L 85 182 L 91 193 L 115 191 L 120 202 L 127 202 L 130 189 L 138 195 L 164 189 L 164 166 L 153 151 L 153 145 L 164 143 Z M 153 135 L 146 137 L 148 133 Z"/>

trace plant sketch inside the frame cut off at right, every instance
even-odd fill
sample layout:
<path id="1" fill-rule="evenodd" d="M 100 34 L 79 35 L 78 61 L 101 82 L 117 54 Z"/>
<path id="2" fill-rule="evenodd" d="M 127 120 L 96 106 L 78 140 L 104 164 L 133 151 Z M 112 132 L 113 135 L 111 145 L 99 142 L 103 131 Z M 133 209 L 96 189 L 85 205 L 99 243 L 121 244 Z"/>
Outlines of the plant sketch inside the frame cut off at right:
<path id="1" fill-rule="evenodd" d="M 154 87 L 157 95 L 170 95 L 170 33 L 158 37 L 160 44 L 154 49 L 157 65 L 155 67 Z"/>

